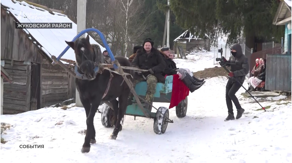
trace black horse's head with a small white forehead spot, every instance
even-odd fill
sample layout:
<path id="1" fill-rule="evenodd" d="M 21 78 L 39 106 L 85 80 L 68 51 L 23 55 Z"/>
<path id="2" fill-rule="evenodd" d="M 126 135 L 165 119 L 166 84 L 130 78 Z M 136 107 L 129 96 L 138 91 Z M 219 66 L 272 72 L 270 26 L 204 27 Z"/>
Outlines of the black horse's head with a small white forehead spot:
<path id="1" fill-rule="evenodd" d="M 75 42 L 65 42 L 75 52 L 78 71 L 83 72 L 88 80 L 95 79 L 94 66 L 96 56 L 89 42 L 89 35 L 86 38 L 80 37 Z"/>

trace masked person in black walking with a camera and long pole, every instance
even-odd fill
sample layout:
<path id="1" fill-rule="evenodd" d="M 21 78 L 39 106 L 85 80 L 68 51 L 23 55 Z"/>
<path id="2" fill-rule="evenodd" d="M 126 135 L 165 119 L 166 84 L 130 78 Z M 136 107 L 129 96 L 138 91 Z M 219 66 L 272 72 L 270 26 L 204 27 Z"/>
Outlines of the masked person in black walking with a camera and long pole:
<path id="1" fill-rule="evenodd" d="M 241 118 L 244 113 L 244 109 L 241 108 L 235 93 L 239 90 L 244 82 L 246 74 L 249 71 L 248 59 L 242 54 L 242 49 L 240 44 L 233 44 L 231 46 L 231 54 L 229 60 L 221 57 L 223 62 L 220 62 L 221 66 L 230 67 L 230 73 L 228 74 L 228 82 L 226 85 L 226 105 L 228 108 L 228 117 L 224 121 L 234 120 L 232 101 L 237 109 L 236 119 Z M 234 78 L 233 78 L 234 77 Z M 237 80 L 241 85 L 237 82 Z"/>

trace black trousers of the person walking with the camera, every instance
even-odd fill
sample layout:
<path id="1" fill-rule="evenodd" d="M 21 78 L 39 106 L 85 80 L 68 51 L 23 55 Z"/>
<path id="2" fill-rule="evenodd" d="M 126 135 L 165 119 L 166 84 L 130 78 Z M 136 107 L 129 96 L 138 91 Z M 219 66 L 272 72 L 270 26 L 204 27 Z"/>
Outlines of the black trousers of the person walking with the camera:
<path id="1" fill-rule="evenodd" d="M 241 83 L 241 82 L 240 82 Z M 243 84 L 243 82 L 241 83 Z M 239 90 L 241 85 L 237 81 L 230 81 L 228 80 L 226 85 L 226 105 L 228 108 L 228 113 L 233 114 L 233 107 L 232 107 L 232 101 L 236 107 L 236 109 L 241 109 L 241 105 L 239 104 L 239 101 L 237 97 L 235 96 L 235 93 Z"/>

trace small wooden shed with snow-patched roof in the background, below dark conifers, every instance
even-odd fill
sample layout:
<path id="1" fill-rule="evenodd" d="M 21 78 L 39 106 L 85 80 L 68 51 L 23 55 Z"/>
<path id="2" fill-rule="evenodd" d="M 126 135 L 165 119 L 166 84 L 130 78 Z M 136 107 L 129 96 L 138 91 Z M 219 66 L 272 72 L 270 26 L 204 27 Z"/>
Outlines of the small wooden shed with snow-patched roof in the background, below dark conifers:
<path id="1" fill-rule="evenodd" d="M 198 38 L 188 30 L 173 40 L 173 50 L 177 51 L 177 46 L 181 46 L 182 50 L 186 53 L 193 47 L 203 47 L 205 50 L 210 51 L 211 40 L 208 35 L 205 34 L 204 38 Z"/>

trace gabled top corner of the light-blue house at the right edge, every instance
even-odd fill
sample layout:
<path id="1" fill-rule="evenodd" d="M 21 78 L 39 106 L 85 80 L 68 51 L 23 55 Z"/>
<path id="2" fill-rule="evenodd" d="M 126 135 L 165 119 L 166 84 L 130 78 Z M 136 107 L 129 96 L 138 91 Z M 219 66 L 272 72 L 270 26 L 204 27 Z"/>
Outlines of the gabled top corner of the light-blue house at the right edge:
<path id="1" fill-rule="evenodd" d="M 283 52 L 291 55 L 291 0 L 281 0 L 273 24 L 285 26 Z"/>

